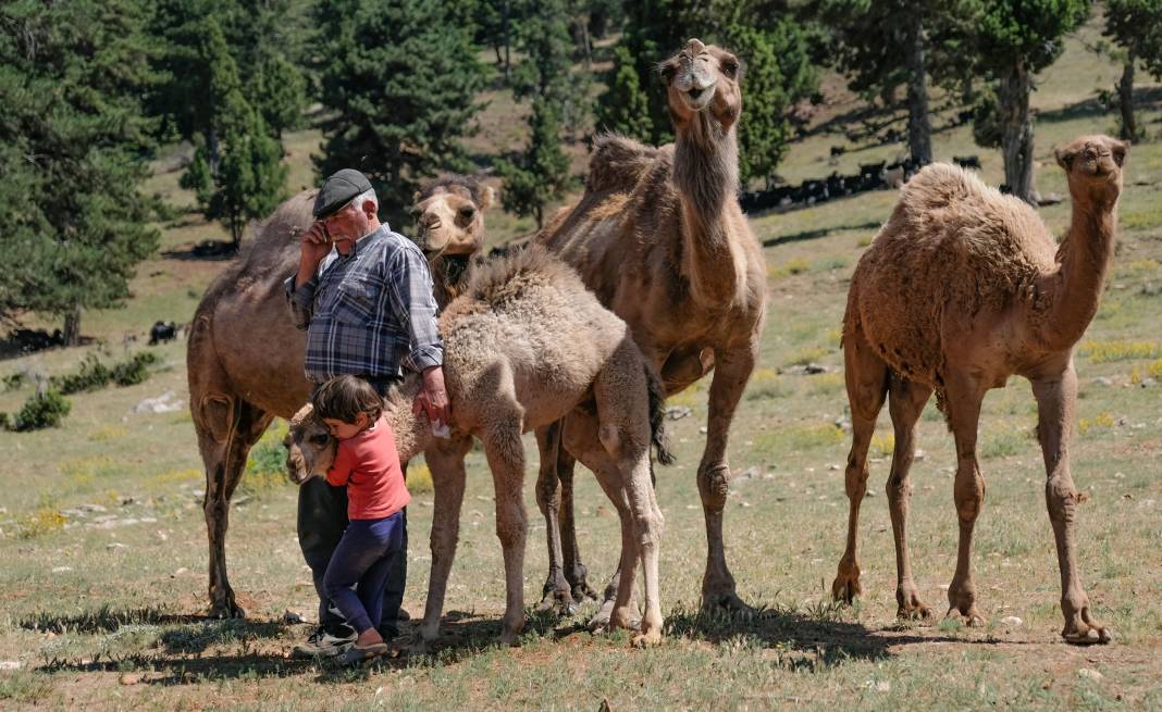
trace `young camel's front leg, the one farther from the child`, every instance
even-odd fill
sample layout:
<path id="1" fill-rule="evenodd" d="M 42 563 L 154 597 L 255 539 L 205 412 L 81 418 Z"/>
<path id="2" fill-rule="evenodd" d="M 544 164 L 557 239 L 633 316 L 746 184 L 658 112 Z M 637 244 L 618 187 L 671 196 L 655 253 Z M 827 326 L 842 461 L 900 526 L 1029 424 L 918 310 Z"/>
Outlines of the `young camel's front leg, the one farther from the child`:
<path id="1" fill-rule="evenodd" d="M 519 405 L 516 405 L 519 408 Z M 524 628 L 524 446 L 521 413 L 498 415 L 485 433 L 485 454 L 496 494 L 496 537 L 504 552 L 504 621 L 501 642 L 515 645 Z"/>

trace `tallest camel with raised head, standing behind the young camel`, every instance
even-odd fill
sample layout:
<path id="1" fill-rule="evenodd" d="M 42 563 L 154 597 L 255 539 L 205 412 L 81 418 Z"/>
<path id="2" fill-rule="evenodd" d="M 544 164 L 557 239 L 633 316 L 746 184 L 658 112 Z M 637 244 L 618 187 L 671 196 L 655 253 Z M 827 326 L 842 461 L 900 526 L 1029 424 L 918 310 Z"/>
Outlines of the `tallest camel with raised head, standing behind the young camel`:
<path id="1" fill-rule="evenodd" d="M 715 369 L 697 470 L 708 548 L 702 603 L 746 609 L 723 548 L 726 438 L 759 350 L 766 267 L 737 199 L 739 62 L 690 39 L 660 72 L 675 143 L 654 149 L 598 137 L 581 201 L 554 216 L 537 242 L 576 267 L 601 302 L 629 323 L 667 395 Z M 573 526 L 573 458 L 559 447 L 558 427 L 538 433 L 538 443 L 537 503 L 550 535 L 543 606 L 569 606 L 591 595 Z M 607 602 L 612 592 L 607 589 Z"/>

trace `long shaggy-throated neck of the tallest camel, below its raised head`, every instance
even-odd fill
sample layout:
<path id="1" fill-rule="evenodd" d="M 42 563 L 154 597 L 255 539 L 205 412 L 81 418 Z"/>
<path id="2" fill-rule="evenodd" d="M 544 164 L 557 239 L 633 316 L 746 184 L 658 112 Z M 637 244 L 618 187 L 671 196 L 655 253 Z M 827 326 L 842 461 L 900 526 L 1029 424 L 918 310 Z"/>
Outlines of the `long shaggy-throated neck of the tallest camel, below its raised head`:
<path id="1" fill-rule="evenodd" d="M 738 193 L 738 142 L 706 114 L 696 114 L 674 142 L 674 185 L 682 203 L 682 271 L 702 303 L 739 299 L 746 279 L 732 244 L 731 202 Z"/>

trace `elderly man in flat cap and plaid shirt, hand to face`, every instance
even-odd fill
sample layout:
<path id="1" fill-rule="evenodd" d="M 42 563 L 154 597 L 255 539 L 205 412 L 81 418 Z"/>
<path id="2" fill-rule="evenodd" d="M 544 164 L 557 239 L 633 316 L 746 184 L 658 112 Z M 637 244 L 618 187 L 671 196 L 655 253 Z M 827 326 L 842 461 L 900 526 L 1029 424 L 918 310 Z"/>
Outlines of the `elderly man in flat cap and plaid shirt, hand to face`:
<path id="1" fill-rule="evenodd" d="M 315 223 L 302 238 L 299 272 L 286 282 L 295 325 L 307 331 L 307 379 L 318 384 L 337 375 L 359 376 L 383 395 L 402 368 L 423 374 L 415 409 L 447 423 L 443 344 L 436 331 L 436 300 L 428 261 L 416 245 L 378 217 L 379 202 L 359 171 L 344 168 L 323 182 Z M 299 491 L 299 544 L 320 596 L 320 627 L 299 655 L 332 656 L 356 639 L 323 594 L 323 574 L 347 524 L 347 494 L 322 477 Z M 407 510 L 404 510 L 407 551 Z M 399 635 L 407 556 L 389 575 L 380 633 Z"/>

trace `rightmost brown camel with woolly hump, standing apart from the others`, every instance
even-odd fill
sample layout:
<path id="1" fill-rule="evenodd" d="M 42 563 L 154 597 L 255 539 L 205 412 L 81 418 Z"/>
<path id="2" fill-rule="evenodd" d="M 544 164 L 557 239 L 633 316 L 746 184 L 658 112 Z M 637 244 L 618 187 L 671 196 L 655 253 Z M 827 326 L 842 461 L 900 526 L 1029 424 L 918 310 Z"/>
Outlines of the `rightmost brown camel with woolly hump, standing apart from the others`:
<path id="1" fill-rule="evenodd" d="M 837 599 L 860 595 L 856 528 L 867 490 L 868 444 L 889 401 L 896 448 L 888 504 L 896 540 L 902 617 L 930 617 L 912 580 L 908 549 L 909 469 L 916 422 L 932 391 L 956 441 L 954 495 L 960 522 L 948 614 L 983 621 L 973 583 L 973 526 L 984 502 L 976 459 L 981 402 L 1011 375 L 1033 384 L 1045 455 L 1045 498 L 1061 570 L 1062 637 L 1107 642 L 1082 589 L 1074 519 L 1083 501 L 1069 469 L 1069 427 L 1077 400 L 1074 345 L 1098 308 L 1113 258 L 1126 144 L 1085 136 L 1056 151 L 1073 196 L 1073 223 L 1056 246 L 1025 202 L 948 164 L 925 167 L 852 278 L 844 316 L 844 361 L 852 410 L 846 489 L 847 549 L 832 584 Z"/>

